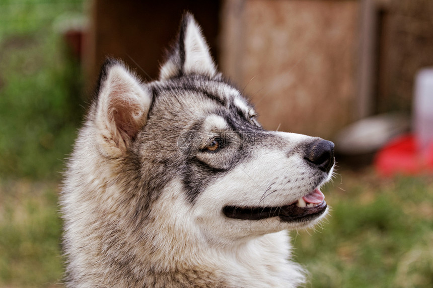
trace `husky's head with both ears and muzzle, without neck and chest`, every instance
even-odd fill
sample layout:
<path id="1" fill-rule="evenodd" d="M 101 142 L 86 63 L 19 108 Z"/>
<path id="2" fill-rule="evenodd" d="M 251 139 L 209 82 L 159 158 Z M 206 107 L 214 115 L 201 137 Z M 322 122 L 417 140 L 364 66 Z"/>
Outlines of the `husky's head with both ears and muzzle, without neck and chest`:
<path id="1" fill-rule="evenodd" d="M 208 239 L 305 228 L 327 212 L 320 186 L 333 172 L 333 143 L 264 130 L 189 14 L 158 80 L 143 83 L 107 60 L 92 111 L 107 169 L 119 179 L 121 169 L 136 171 L 122 181 L 142 194 L 133 202 L 142 221 L 167 205 L 163 191 L 182 198 L 164 209 L 186 215 Z"/>

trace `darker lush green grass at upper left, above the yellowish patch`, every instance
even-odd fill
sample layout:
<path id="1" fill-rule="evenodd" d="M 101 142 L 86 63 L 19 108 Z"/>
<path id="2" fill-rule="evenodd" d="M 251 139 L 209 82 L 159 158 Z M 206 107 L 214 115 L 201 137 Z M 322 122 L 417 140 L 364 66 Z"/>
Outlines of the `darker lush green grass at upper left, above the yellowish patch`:
<path id="1" fill-rule="evenodd" d="M 81 10 L 82 1 L 0 0 L 0 177 L 59 178 L 82 98 L 55 23 Z"/>

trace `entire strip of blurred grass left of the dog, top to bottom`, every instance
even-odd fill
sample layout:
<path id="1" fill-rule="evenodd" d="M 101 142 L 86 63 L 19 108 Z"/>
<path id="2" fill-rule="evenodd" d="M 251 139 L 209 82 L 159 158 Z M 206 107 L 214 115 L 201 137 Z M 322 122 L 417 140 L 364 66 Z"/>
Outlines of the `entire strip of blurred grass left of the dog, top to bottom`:
<path id="1" fill-rule="evenodd" d="M 59 30 L 83 0 L 0 0 L 0 287 L 61 279 L 57 183 L 82 118 Z"/>

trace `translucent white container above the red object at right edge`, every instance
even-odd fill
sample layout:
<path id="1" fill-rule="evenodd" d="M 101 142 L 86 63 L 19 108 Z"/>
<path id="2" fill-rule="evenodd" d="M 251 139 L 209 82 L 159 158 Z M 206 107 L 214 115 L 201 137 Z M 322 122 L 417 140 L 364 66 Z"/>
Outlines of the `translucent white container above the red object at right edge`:
<path id="1" fill-rule="evenodd" d="M 433 144 L 433 68 L 416 75 L 413 117 L 416 143 L 424 154 Z"/>

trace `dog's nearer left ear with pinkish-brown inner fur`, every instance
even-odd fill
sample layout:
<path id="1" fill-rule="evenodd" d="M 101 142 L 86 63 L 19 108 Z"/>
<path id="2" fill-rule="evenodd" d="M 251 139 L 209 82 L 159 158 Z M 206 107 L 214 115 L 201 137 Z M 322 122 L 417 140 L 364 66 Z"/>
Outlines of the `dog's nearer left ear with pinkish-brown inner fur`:
<path id="1" fill-rule="evenodd" d="M 146 124 L 152 93 L 122 62 L 107 59 L 97 89 L 95 123 L 107 156 L 124 154 Z"/>

